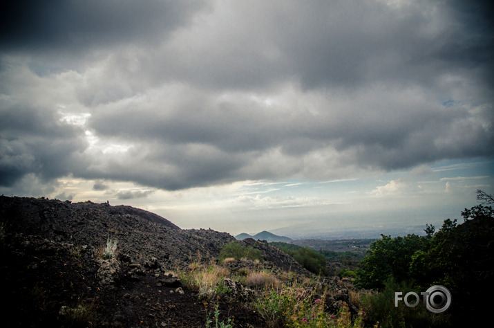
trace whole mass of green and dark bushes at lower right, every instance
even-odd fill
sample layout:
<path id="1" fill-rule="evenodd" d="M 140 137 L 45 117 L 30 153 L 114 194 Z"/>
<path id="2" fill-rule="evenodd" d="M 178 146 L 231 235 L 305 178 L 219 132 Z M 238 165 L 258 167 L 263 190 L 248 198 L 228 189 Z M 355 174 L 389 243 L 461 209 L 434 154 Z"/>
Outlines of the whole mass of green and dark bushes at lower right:
<path id="1" fill-rule="evenodd" d="M 494 202 L 482 190 L 477 191 L 477 199 Z M 379 318 L 383 327 L 439 327 L 446 322 L 472 326 L 475 318 L 465 313 L 488 313 L 488 302 L 479 300 L 484 299 L 484 291 L 494 290 L 494 210 L 473 206 L 465 208 L 462 217 L 462 224 L 446 219 L 437 233 L 434 226 L 427 226 L 425 236 L 381 235 L 371 244 L 356 280 L 360 286 L 380 291 L 365 298 L 370 322 Z M 422 300 L 414 308 L 394 306 L 395 291 L 419 294 L 434 285 L 450 291 L 448 311 L 428 313 Z"/>

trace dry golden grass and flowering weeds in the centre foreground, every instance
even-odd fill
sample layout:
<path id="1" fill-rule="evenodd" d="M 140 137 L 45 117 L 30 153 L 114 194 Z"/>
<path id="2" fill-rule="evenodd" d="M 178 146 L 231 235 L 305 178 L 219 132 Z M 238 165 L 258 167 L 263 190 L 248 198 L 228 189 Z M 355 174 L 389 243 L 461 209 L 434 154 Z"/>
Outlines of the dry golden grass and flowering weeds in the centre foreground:
<path id="1" fill-rule="evenodd" d="M 249 259 L 243 263 L 254 265 Z M 319 280 L 298 277 L 292 272 L 259 266 L 253 270 L 245 268 L 240 273 L 219 260 L 201 263 L 198 256 L 198 261 L 176 275 L 187 288 L 199 291 L 202 302 L 214 307 L 213 318 L 207 313 L 206 327 L 234 326 L 234 318 L 220 319 L 218 302 L 225 301 L 242 302 L 256 311 L 264 318 L 265 327 L 363 327 L 363 311 L 352 313 L 344 302 L 330 310 L 334 286 L 328 287 Z"/>

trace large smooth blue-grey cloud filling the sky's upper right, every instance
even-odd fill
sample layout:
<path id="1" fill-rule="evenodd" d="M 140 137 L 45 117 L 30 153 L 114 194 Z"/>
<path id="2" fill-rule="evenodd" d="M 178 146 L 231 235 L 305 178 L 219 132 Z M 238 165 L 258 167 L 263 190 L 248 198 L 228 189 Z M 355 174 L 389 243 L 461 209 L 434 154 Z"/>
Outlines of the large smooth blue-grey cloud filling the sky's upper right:
<path id="1" fill-rule="evenodd" d="M 377 80 L 430 87 L 444 73 L 493 75 L 491 24 L 474 21 L 484 8 L 466 15 L 464 6 L 439 1 L 400 8 L 379 1 L 236 6 L 223 24 L 175 35 L 155 53 L 153 73 L 213 89 L 258 89 L 289 79 L 304 89 Z"/>

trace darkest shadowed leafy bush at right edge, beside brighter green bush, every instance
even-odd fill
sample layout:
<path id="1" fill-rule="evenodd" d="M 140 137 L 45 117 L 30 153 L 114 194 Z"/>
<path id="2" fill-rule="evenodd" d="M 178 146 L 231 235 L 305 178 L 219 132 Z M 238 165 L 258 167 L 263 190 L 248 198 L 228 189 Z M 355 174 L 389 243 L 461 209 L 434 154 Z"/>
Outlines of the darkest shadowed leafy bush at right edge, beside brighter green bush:
<path id="1" fill-rule="evenodd" d="M 444 221 L 430 246 L 412 257 L 410 275 L 423 289 L 440 284 L 450 291 L 455 321 L 471 325 L 459 313 L 489 313 L 486 291 L 494 290 L 494 217 L 491 206 L 474 206 L 462 212 L 464 223 Z M 456 317 L 457 316 L 457 317 Z"/>

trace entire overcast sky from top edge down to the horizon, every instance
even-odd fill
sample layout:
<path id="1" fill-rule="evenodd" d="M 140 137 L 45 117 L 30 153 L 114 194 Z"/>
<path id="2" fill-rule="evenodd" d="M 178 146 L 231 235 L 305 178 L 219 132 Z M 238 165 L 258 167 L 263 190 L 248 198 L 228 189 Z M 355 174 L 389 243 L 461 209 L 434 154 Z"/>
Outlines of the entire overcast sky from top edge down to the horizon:
<path id="1" fill-rule="evenodd" d="M 182 228 L 443 221 L 494 188 L 487 1 L 10 1 L 0 193 Z"/>

